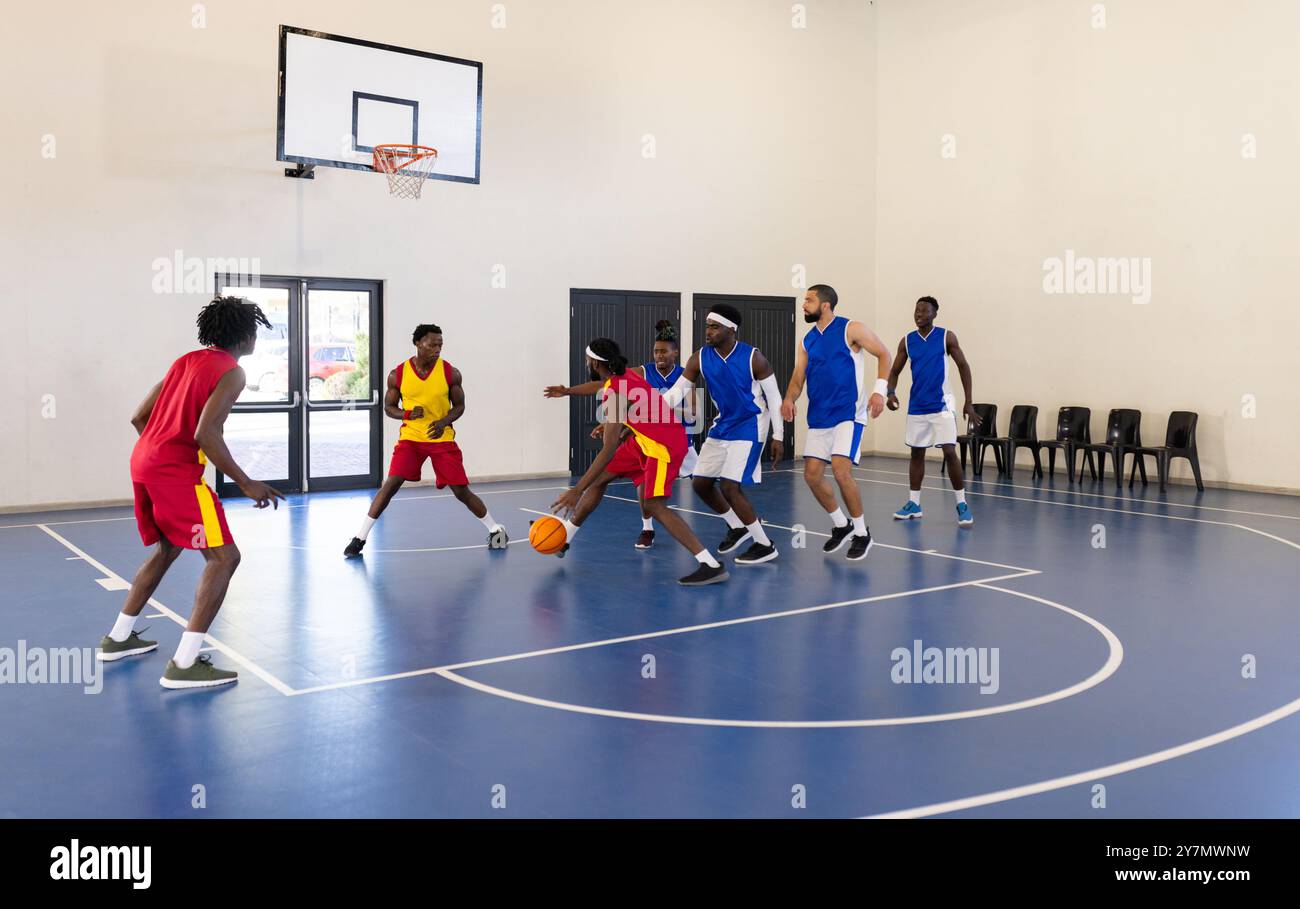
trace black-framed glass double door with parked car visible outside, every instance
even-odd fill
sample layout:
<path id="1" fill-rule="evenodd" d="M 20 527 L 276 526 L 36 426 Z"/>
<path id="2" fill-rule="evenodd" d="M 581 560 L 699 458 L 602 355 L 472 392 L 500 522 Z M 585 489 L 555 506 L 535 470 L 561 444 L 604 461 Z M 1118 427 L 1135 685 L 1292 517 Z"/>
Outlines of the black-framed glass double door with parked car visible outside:
<path id="1" fill-rule="evenodd" d="M 286 493 L 380 484 L 378 281 L 218 274 L 218 293 L 261 307 L 270 328 L 240 359 L 247 384 L 225 438 L 243 471 Z M 220 472 L 217 493 L 239 495 Z"/>

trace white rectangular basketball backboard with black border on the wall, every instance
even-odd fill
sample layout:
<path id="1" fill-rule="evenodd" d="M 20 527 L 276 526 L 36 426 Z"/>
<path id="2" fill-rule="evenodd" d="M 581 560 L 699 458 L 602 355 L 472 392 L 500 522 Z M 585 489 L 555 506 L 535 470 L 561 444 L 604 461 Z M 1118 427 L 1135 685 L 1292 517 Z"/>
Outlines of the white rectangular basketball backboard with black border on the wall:
<path id="1" fill-rule="evenodd" d="M 381 143 L 432 146 L 430 179 L 478 182 L 482 64 L 280 26 L 277 157 L 369 170 Z"/>

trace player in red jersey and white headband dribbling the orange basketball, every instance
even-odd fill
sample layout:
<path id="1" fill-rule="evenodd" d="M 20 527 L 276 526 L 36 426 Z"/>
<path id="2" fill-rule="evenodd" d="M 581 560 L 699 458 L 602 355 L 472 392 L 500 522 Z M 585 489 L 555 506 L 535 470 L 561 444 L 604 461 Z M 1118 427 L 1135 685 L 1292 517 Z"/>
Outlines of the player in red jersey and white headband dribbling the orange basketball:
<path id="1" fill-rule="evenodd" d="M 686 521 L 668 508 L 672 481 L 689 446 L 681 420 L 645 378 L 628 369 L 619 345 L 608 338 L 588 345 L 586 368 L 593 381 L 604 382 L 604 443 L 577 485 L 551 505 L 568 534 L 559 555 L 564 555 L 578 528 L 595 511 L 606 488 L 628 477 L 641 489 L 646 512 L 699 562 L 696 571 L 677 583 L 699 586 L 727 580 L 727 568 L 705 549 Z"/>

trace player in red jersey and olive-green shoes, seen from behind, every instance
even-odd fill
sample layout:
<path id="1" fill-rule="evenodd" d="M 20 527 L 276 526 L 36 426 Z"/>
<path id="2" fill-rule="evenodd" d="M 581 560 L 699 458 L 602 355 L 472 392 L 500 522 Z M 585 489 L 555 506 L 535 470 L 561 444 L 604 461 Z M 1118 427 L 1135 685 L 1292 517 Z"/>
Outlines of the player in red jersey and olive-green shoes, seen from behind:
<path id="1" fill-rule="evenodd" d="M 218 670 L 207 655 L 199 655 L 203 636 L 239 566 L 239 550 L 226 525 L 221 499 L 203 481 L 203 468 L 211 460 L 259 508 L 276 506 L 283 498 L 239 469 L 221 432 L 230 407 L 243 391 L 239 358 L 252 352 L 259 324 L 270 328 L 255 303 L 238 296 L 213 299 L 198 319 L 199 343 L 204 349 L 173 363 L 131 417 L 140 434 L 131 451 L 135 521 L 144 545 L 157 544 L 157 547 L 135 572 L 122 613 L 100 642 L 99 658 L 121 659 L 157 648 L 157 641 L 139 636 L 135 619 L 176 557 L 186 549 L 198 549 L 207 567 L 195 592 L 190 624 L 160 679 L 164 688 L 211 688 L 238 679 L 238 674 Z"/>

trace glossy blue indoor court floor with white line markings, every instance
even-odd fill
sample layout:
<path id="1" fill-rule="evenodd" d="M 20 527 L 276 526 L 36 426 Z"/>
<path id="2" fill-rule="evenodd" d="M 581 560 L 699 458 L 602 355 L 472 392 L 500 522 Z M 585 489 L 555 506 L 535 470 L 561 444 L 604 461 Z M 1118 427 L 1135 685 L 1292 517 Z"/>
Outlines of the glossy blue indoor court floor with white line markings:
<path id="1" fill-rule="evenodd" d="M 633 549 L 628 485 L 563 560 L 526 542 L 560 480 L 477 486 L 506 551 L 432 486 L 358 560 L 368 492 L 231 501 L 209 645 L 239 683 L 159 687 L 186 554 L 140 622 L 156 653 L 0 685 L 0 815 L 1300 815 L 1300 498 L 989 467 L 958 528 L 931 462 L 904 524 L 906 469 L 857 471 L 858 563 L 822 554 L 801 472 L 767 473 L 780 558 L 699 589 L 666 532 Z M 129 508 L 0 516 L 0 648 L 94 648 L 144 554 Z"/>

